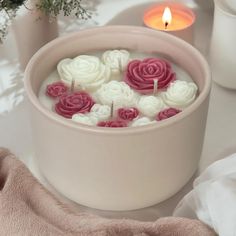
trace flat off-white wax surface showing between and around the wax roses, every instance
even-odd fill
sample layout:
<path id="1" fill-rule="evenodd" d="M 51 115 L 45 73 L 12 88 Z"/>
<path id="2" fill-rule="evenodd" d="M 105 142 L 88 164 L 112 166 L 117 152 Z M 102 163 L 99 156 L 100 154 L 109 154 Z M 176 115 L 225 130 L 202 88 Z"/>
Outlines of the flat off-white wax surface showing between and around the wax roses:
<path id="1" fill-rule="evenodd" d="M 93 56 L 97 56 L 97 57 L 101 58 L 101 55 L 102 55 L 103 52 L 104 51 L 96 52 L 96 53 L 86 53 L 86 55 L 93 55 Z M 149 57 L 164 58 L 163 56 L 160 56 L 160 55 L 155 54 L 155 53 L 154 54 L 147 54 L 147 53 L 130 52 L 131 60 L 134 60 L 134 59 L 142 60 L 142 59 L 149 58 Z M 172 63 L 170 60 L 168 60 L 168 59 L 166 59 L 166 60 L 170 62 L 173 71 L 176 73 L 177 80 L 183 80 L 183 81 L 188 81 L 188 82 L 193 81 L 191 79 L 190 75 L 186 71 L 184 71 L 182 68 L 180 68 L 176 64 Z M 111 80 L 122 81 L 123 77 L 124 77 L 124 73 L 121 74 L 121 76 L 113 75 L 111 77 Z M 48 78 L 46 78 L 44 80 L 44 82 L 42 83 L 42 86 L 39 90 L 39 93 L 38 93 L 38 98 L 39 98 L 40 103 L 44 107 L 46 107 L 47 109 L 50 109 L 50 110 L 53 110 L 53 107 L 54 107 L 54 104 L 55 104 L 55 99 L 52 99 L 52 98 L 50 98 L 49 96 L 46 95 L 46 87 L 47 87 L 48 84 L 51 84 L 51 83 L 56 82 L 56 81 L 60 81 L 60 77 L 59 77 L 59 74 L 57 72 L 57 69 L 55 68 L 55 70 L 48 76 Z M 90 94 L 90 95 L 96 101 L 96 98 L 93 96 L 93 94 Z M 150 94 L 150 95 L 152 95 L 152 94 Z M 140 115 L 139 117 L 142 117 L 142 115 Z M 152 119 L 152 120 L 154 120 L 154 119 Z"/>

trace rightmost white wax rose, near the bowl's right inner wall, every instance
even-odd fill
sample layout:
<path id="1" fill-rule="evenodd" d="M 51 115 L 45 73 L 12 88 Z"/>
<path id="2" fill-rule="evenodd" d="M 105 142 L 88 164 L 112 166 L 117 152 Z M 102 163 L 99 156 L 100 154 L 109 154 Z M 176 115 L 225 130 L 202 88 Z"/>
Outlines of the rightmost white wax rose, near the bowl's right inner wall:
<path id="1" fill-rule="evenodd" d="M 195 100 L 197 91 L 195 83 L 176 80 L 162 93 L 162 98 L 168 106 L 183 109 Z"/>

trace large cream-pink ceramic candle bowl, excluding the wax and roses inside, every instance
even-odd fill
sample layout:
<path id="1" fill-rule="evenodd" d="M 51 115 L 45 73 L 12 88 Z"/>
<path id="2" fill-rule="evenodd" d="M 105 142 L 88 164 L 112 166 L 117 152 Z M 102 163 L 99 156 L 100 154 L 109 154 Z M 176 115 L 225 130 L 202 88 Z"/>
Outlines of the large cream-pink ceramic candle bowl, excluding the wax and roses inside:
<path id="1" fill-rule="evenodd" d="M 39 103 L 40 85 L 61 59 L 110 48 L 167 55 L 191 74 L 198 99 L 158 124 L 116 129 L 73 123 Z M 210 84 L 209 67 L 196 49 L 144 27 L 100 27 L 50 42 L 31 59 L 25 82 L 42 174 L 69 199 L 103 210 L 138 209 L 169 198 L 197 169 Z"/>

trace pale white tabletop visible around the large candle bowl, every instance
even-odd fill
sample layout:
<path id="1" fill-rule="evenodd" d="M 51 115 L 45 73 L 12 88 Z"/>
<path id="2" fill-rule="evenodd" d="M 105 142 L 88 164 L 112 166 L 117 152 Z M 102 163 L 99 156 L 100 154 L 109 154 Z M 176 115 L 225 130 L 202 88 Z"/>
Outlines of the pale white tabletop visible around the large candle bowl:
<path id="1" fill-rule="evenodd" d="M 195 34 L 195 46 L 207 55 L 209 39 L 212 27 L 212 1 L 182 0 L 194 8 L 200 17 L 197 19 Z M 104 24 L 133 24 L 142 25 L 141 15 L 148 4 L 147 0 L 96 0 L 97 14 L 93 20 L 81 25 L 76 20 L 60 20 L 62 34 Z M 206 3 L 207 2 L 207 3 Z M 209 115 L 206 127 L 204 148 L 199 164 L 199 172 L 204 170 L 212 162 L 236 151 L 236 91 L 226 90 L 213 83 Z M 33 174 L 49 186 L 34 162 L 31 128 L 27 112 L 27 99 L 23 88 L 23 73 L 17 66 L 16 46 L 12 32 L 4 45 L 0 46 L 0 146 L 8 147 L 15 153 Z M 193 180 L 193 179 L 192 179 Z M 129 217 L 138 220 L 155 220 L 161 216 L 171 215 L 179 200 L 191 189 L 192 180 L 175 196 L 156 206 L 129 212 L 105 212 L 79 206 L 63 198 L 58 197 L 78 211 L 87 211 L 106 217 Z"/>

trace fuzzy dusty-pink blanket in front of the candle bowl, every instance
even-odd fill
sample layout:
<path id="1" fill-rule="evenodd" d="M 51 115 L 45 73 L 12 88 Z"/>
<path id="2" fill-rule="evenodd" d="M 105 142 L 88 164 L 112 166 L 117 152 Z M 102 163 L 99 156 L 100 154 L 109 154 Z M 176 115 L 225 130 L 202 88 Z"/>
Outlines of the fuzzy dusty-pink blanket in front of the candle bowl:
<path id="1" fill-rule="evenodd" d="M 72 212 L 21 161 L 0 149 L 0 235 L 215 236 L 215 233 L 198 220 L 167 217 L 139 222 Z"/>

